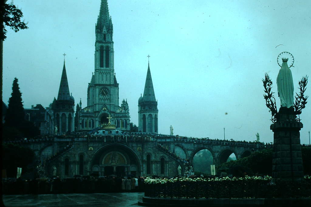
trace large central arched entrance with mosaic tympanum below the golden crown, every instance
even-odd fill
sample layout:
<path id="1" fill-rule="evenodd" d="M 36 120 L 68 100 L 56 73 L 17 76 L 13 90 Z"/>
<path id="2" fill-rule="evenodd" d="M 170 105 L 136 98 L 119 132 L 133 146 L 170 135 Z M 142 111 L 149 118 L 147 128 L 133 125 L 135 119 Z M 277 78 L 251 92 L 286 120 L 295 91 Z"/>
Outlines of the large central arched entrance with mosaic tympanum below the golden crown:
<path id="1" fill-rule="evenodd" d="M 98 166 L 98 168 L 94 168 Z M 139 159 L 132 149 L 121 144 L 110 144 L 101 148 L 92 161 L 91 172 L 101 176 L 116 175 L 126 177 L 128 175 L 139 176 L 141 171 Z"/>

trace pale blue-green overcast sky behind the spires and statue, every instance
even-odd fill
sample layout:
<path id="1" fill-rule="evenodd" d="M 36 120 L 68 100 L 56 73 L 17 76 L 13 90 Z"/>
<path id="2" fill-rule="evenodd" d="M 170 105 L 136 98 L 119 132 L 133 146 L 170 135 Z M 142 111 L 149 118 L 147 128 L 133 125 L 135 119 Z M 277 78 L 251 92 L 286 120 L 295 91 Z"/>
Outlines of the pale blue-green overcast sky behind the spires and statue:
<path id="1" fill-rule="evenodd" d="M 9 2 L 9 1 L 8 1 Z M 3 42 L 3 101 L 19 80 L 24 108 L 48 107 L 58 96 L 65 53 L 69 91 L 86 107 L 94 72 L 95 23 L 100 0 L 15 0 L 29 29 L 7 28 Z M 108 0 L 114 25 L 114 70 L 119 104 L 127 99 L 138 125 L 148 55 L 158 101 L 159 133 L 273 142 L 262 79 L 277 97 L 277 56 L 290 52 L 295 93 L 310 76 L 311 2 Z M 311 82 L 305 95 L 311 95 Z M 310 100 L 308 101 L 310 102 Z M 309 144 L 311 103 L 300 115 Z M 225 130 L 224 130 L 225 128 Z"/>

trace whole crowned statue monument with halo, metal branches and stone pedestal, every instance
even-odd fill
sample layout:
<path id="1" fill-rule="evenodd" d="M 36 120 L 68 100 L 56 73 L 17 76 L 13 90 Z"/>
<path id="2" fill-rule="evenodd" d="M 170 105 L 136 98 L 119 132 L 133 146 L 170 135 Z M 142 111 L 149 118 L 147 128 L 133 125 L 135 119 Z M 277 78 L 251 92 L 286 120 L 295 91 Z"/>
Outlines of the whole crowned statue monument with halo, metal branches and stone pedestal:
<path id="1" fill-rule="evenodd" d="M 290 66 L 287 65 L 290 59 Z M 282 65 L 280 61 L 282 60 Z M 272 178 L 301 181 L 303 179 L 303 165 L 300 146 L 300 129 L 303 124 L 299 115 L 305 108 L 308 97 L 304 96 L 308 77 L 299 81 L 299 94 L 296 93 L 294 102 L 294 84 L 290 67 L 294 64 L 294 57 L 289 52 L 282 52 L 277 58 L 281 67 L 277 77 L 277 91 L 281 100 L 279 111 L 272 92 L 272 81 L 268 74 L 262 79 L 264 99 L 272 115 L 270 129 L 274 132 Z M 298 115 L 298 118 L 297 118 Z"/>

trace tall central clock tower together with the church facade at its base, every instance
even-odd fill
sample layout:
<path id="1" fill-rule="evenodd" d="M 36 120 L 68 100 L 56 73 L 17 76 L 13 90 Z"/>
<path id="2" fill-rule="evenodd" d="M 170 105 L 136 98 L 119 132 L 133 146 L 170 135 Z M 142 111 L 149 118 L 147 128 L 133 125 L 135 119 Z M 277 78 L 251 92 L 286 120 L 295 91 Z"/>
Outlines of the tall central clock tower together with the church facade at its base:
<path id="1" fill-rule="evenodd" d="M 119 106 L 119 84 L 114 72 L 113 25 L 107 0 L 101 0 L 95 25 L 95 70 L 87 88 L 87 106 L 81 108 L 78 130 L 91 130 L 107 124 L 128 131 L 127 101 Z"/>

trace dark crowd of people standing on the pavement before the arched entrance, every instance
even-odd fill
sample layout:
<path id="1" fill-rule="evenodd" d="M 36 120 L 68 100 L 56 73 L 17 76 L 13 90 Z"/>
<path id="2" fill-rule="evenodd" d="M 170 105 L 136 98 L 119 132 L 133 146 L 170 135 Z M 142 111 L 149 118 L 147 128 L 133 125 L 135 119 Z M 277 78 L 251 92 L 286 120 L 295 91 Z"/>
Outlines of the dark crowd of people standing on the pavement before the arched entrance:
<path id="1" fill-rule="evenodd" d="M 2 194 L 143 192 L 143 177 L 74 176 L 73 178 L 2 178 Z"/>

